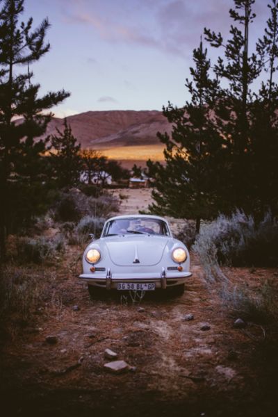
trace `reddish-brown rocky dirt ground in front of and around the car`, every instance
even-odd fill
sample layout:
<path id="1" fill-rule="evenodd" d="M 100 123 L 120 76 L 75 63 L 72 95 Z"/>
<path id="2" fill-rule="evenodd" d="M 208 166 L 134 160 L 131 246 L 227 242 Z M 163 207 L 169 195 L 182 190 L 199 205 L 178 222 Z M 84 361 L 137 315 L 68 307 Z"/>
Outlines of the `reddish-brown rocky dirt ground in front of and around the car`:
<path id="1" fill-rule="evenodd" d="M 121 193 L 129 196 L 122 213 L 144 209 L 150 199 L 149 190 Z M 235 318 L 206 287 L 196 256 L 182 296 L 161 291 L 132 302 L 122 293 L 102 293 L 90 300 L 77 279 L 76 248 L 70 247 L 62 265 L 45 270 L 53 277 L 54 300 L 42 301 L 31 322 L 17 319 L 14 333 L 2 335 L 3 416 L 277 415 L 278 355 L 268 340 L 271 329 L 252 323 L 235 328 Z M 228 272 L 250 285 L 277 273 Z M 186 321 L 189 313 L 194 318 Z M 56 343 L 47 343 L 47 336 Z M 109 373 L 107 348 L 129 370 Z"/>

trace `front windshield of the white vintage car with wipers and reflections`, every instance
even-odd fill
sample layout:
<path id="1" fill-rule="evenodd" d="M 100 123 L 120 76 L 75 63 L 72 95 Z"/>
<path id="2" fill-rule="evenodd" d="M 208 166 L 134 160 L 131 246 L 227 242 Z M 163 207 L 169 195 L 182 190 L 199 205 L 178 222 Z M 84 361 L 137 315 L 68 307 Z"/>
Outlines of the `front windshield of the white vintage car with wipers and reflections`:
<path id="1" fill-rule="evenodd" d="M 153 218 L 122 218 L 106 224 L 103 237 L 120 234 L 153 234 L 170 236 L 167 224 Z"/>

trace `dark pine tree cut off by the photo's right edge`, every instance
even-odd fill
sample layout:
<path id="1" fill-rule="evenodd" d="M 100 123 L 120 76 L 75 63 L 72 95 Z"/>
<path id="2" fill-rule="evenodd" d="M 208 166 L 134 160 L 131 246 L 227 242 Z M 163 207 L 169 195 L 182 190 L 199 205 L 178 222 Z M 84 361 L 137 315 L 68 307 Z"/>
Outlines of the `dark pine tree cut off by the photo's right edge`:
<path id="1" fill-rule="evenodd" d="M 278 2 L 268 5 L 270 17 L 266 22 L 263 38 L 256 44 L 267 75 L 250 112 L 252 130 L 252 167 L 256 190 L 256 210 L 278 212 L 278 86 L 275 72 L 278 69 Z"/>

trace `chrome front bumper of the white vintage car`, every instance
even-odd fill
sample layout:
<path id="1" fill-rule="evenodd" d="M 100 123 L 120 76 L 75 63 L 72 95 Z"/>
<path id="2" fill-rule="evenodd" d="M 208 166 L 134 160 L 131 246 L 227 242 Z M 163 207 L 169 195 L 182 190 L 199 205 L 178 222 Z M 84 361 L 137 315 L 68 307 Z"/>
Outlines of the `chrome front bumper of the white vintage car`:
<path id="1" fill-rule="evenodd" d="M 111 290 L 112 288 L 117 288 L 117 282 L 154 282 L 156 284 L 156 288 L 167 288 L 167 285 L 170 284 L 171 280 L 173 281 L 173 285 L 183 284 L 186 281 L 186 278 L 191 277 L 191 272 L 167 272 L 165 268 L 162 268 L 161 273 L 159 272 L 140 272 L 140 273 L 111 273 L 111 269 L 108 268 L 106 275 L 104 273 L 89 273 L 89 274 L 81 274 L 79 278 L 83 281 L 88 282 L 89 284 L 95 286 L 101 286 L 102 288 L 106 287 L 107 290 Z M 177 281 L 177 283 L 174 283 Z"/>

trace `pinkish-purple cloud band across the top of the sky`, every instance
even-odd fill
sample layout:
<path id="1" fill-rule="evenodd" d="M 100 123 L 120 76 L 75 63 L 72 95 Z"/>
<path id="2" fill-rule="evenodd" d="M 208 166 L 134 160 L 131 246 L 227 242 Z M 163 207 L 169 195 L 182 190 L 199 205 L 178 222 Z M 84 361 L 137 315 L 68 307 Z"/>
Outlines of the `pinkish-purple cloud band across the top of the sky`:
<path id="1" fill-rule="evenodd" d="M 63 0 L 60 0 L 63 1 Z M 72 0 L 69 0 L 72 1 Z M 67 22 L 90 26 L 110 43 L 149 47 L 188 58 L 207 26 L 228 34 L 233 0 L 79 0 L 67 10 Z"/>

